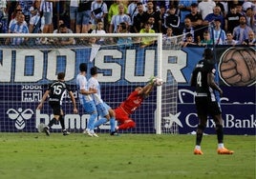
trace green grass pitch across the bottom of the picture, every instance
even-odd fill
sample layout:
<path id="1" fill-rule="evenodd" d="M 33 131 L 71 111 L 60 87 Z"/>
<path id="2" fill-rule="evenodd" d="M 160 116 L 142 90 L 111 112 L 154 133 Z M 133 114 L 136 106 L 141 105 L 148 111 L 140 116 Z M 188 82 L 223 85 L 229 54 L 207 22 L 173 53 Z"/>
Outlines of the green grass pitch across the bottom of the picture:
<path id="1" fill-rule="evenodd" d="M 233 155 L 217 154 L 215 135 L 203 136 L 199 156 L 195 135 L 0 133 L 0 178 L 254 179 L 255 136 L 224 139 Z"/>

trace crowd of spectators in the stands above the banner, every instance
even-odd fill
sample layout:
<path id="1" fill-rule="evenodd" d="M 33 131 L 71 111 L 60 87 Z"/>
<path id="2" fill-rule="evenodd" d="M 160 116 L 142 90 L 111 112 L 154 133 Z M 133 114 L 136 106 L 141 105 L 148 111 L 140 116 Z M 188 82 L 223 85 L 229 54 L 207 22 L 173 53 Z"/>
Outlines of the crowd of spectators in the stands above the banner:
<path id="1" fill-rule="evenodd" d="M 0 0 L 1 33 L 162 33 L 182 47 L 256 44 L 255 0 Z M 181 35 L 177 42 L 173 36 Z M 118 39 L 118 43 L 130 39 Z M 133 39 L 132 39 L 133 40 Z M 24 38 L 1 44 L 20 45 Z M 86 38 L 37 38 L 37 44 L 72 45 Z M 92 43 L 92 42 L 90 42 Z M 103 44 L 104 38 L 95 43 Z M 141 39 L 141 47 L 154 40 Z"/>

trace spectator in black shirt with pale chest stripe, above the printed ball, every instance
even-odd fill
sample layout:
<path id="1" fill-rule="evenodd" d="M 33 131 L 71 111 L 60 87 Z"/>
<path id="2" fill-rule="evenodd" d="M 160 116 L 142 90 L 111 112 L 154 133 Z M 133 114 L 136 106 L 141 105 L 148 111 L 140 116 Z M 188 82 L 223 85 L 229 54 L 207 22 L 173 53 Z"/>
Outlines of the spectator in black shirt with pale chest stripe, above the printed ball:
<path id="1" fill-rule="evenodd" d="M 241 14 L 237 12 L 236 5 L 232 4 L 230 6 L 230 12 L 225 16 L 225 31 L 233 31 L 234 28 L 239 25 L 239 18 L 241 16 Z"/>

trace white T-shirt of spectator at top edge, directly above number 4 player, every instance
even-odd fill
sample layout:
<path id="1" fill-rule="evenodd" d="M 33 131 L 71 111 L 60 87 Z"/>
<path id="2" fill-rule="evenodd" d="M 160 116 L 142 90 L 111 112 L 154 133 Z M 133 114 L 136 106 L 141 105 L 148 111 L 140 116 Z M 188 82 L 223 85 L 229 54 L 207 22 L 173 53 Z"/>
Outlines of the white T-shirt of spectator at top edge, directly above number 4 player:
<path id="1" fill-rule="evenodd" d="M 216 7 L 216 4 L 212 0 L 203 0 L 199 3 L 198 10 L 202 14 L 204 19 L 208 14 L 213 13 L 213 9 Z"/>

